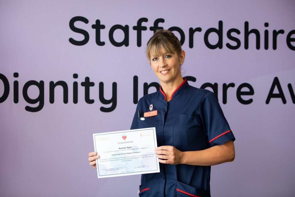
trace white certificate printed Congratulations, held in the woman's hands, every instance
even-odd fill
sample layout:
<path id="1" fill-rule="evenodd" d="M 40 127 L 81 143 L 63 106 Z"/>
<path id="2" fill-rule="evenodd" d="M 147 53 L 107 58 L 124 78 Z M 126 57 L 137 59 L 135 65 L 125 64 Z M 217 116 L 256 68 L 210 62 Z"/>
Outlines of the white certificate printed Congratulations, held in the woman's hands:
<path id="1" fill-rule="evenodd" d="M 141 128 L 93 134 L 98 178 L 160 172 L 154 153 L 156 129 Z"/>

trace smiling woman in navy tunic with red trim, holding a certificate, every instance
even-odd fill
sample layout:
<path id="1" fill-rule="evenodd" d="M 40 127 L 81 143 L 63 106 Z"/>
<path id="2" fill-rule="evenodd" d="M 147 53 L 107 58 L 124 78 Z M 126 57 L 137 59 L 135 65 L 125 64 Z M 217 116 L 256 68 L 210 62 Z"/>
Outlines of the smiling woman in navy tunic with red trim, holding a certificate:
<path id="1" fill-rule="evenodd" d="M 138 101 L 131 129 L 156 128 L 160 172 L 141 176 L 139 195 L 210 196 L 210 166 L 235 158 L 235 137 L 217 97 L 182 78 L 185 52 L 172 32 L 157 30 L 146 54 L 161 86 Z M 142 118 L 155 110 L 157 115 Z M 89 153 L 95 168 L 97 157 Z"/>

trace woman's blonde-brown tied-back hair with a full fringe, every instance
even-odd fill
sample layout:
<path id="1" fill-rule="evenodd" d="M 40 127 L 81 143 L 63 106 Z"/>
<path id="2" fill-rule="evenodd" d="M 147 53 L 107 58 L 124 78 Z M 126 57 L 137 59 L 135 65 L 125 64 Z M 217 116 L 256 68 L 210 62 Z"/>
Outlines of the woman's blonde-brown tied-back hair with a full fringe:
<path id="1" fill-rule="evenodd" d="M 154 35 L 150 38 L 147 44 L 146 56 L 151 58 L 151 52 L 156 56 L 165 53 L 177 53 L 181 52 L 181 44 L 178 38 L 169 30 L 156 30 Z"/>

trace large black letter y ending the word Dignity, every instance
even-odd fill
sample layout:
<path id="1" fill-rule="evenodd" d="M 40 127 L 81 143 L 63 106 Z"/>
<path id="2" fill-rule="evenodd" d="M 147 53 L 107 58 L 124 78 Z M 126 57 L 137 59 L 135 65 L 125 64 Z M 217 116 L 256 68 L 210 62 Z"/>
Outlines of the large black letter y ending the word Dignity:
<path id="1" fill-rule="evenodd" d="M 112 98 L 110 100 L 106 100 L 104 98 L 104 83 L 100 82 L 99 83 L 99 100 L 102 104 L 105 104 L 105 105 L 112 103 L 112 106 L 109 108 L 101 107 L 100 110 L 102 112 L 114 111 L 114 109 L 117 106 L 117 83 L 113 82 L 113 84 L 112 84 Z"/>

